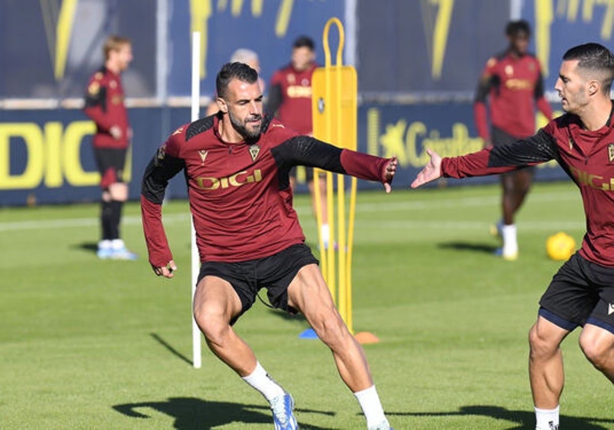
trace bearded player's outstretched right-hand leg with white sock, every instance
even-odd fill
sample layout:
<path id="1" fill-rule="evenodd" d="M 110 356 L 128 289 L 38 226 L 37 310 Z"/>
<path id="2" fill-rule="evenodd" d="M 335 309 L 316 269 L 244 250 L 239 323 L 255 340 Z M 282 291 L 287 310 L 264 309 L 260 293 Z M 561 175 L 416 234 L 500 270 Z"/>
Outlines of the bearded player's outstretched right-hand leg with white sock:
<path id="1" fill-rule="evenodd" d="M 309 264 L 299 270 L 288 287 L 288 304 L 305 315 L 332 351 L 341 379 L 357 397 L 368 428 L 389 429 L 365 352 L 336 310 L 317 265 Z"/>

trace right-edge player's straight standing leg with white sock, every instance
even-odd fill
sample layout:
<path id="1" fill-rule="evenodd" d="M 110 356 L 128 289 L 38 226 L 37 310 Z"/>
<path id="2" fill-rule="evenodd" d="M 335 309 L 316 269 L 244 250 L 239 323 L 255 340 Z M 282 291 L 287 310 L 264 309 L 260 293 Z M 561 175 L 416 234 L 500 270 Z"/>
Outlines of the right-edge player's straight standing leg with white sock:
<path id="1" fill-rule="evenodd" d="M 529 379 L 535 405 L 536 429 L 558 428 L 564 371 L 561 342 L 569 330 L 537 317 L 529 332 Z M 552 425 L 550 425 L 552 424 Z"/>

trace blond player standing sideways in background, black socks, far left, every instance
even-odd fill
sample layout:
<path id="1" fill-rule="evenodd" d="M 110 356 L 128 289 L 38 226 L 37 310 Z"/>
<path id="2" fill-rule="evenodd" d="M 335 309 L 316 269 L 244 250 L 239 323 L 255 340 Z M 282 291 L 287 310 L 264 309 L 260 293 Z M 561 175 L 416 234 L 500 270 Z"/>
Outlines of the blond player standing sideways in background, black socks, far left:
<path id="1" fill-rule="evenodd" d="M 103 189 L 101 208 L 102 239 L 97 255 L 101 259 L 135 260 L 120 238 L 122 206 L 128 199 L 128 185 L 123 181 L 126 152 L 131 129 L 123 103 L 122 72 L 132 61 L 129 39 L 111 36 L 104 44 L 104 66 L 87 85 L 85 114 L 96 123 L 93 145 Z"/>

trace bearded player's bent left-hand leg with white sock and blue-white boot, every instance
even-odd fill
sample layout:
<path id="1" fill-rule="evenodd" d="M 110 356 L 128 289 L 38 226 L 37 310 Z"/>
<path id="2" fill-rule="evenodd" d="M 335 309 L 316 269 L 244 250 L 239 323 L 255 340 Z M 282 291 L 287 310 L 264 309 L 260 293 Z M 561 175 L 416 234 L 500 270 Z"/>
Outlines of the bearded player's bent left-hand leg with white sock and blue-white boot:
<path id="1" fill-rule="evenodd" d="M 217 358 L 235 370 L 271 404 L 276 429 L 297 429 L 298 424 L 292 414 L 292 396 L 269 377 L 256 360 L 252 348 L 230 325 L 231 319 L 240 312 L 241 300 L 228 281 L 217 276 L 201 279 L 194 295 L 194 318 L 207 345 Z"/>

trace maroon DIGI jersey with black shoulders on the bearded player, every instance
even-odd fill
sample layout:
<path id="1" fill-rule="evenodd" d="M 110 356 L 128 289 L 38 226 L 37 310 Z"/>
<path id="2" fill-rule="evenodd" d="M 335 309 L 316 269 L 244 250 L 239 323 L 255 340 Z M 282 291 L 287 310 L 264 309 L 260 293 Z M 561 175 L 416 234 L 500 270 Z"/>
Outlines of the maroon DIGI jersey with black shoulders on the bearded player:
<path id="1" fill-rule="evenodd" d="M 252 260 L 305 241 L 292 208 L 289 170 L 294 165 L 384 181 L 387 158 L 299 136 L 268 119 L 259 139 L 227 143 L 217 132 L 218 120 L 212 115 L 179 127 L 147 166 L 141 210 L 149 262 L 155 267 L 172 259 L 161 203 L 169 179 L 181 170 L 201 261 Z"/>

